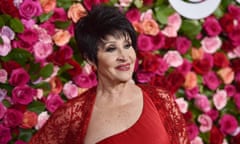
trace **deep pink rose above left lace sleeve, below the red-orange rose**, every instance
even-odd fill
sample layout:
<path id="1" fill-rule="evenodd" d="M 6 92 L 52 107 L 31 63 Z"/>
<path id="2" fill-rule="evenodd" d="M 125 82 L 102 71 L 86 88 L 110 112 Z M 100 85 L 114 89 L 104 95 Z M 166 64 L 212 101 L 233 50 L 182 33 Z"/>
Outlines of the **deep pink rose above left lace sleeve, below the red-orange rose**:
<path id="1" fill-rule="evenodd" d="M 53 113 L 59 106 L 64 103 L 62 98 L 58 94 L 49 94 L 46 101 L 46 107 L 48 111 Z"/>

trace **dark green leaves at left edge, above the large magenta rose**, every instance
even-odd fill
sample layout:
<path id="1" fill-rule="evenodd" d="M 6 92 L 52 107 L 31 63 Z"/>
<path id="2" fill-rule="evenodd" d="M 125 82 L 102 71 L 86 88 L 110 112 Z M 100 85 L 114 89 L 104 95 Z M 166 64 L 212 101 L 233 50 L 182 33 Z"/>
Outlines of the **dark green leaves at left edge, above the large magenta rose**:
<path id="1" fill-rule="evenodd" d="M 3 61 L 14 60 L 14 61 L 17 61 L 22 66 L 25 66 L 27 61 L 32 59 L 32 55 L 30 52 L 24 49 L 15 48 L 7 56 L 1 57 L 1 59 Z"/>

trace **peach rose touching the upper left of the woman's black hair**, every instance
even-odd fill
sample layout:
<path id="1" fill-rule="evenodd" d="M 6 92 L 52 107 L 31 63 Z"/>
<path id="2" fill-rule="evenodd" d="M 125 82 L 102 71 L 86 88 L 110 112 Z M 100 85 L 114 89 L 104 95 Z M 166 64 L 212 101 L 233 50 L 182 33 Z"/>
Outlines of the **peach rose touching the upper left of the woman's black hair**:
<path id="1" fill-rule="evenodd" d="M 75 23 L 86 14 L 87 14 L 86 9 L 80 3 L 71 5 L 71 7 L 68 10 L 68 18 L 72 19 L 72 21 Z"/>

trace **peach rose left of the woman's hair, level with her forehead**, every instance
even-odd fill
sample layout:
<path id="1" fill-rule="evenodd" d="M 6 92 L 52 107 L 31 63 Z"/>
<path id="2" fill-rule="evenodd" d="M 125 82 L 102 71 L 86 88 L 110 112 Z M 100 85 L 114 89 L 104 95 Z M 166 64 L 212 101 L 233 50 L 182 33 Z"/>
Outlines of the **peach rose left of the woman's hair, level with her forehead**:
<path id="1" fill-rule="evenodd" d="M 58 30 L 54 36 L 53 40 L 57 46 L 63 46 L 69 42 L 71 34 L 67 30 Z"/>

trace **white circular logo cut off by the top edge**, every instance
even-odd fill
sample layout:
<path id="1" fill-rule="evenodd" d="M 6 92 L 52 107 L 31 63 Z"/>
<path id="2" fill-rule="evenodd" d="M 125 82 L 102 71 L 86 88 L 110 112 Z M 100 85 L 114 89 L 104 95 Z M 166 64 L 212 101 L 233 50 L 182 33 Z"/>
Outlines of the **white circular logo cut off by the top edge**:
<path id="1" fill-rule="evenodd" d="M 221 0 L 169 0 L 172 7 L 182 16 L 189 19 L 201 19 L 212 14 Z"/>

